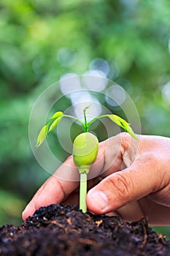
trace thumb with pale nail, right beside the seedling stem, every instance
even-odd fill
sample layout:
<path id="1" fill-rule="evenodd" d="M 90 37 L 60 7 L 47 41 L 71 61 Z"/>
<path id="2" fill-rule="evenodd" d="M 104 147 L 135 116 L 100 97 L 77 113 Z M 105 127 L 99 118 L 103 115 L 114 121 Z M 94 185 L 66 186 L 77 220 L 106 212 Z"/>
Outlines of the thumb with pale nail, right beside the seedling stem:
<path id="1" fill-rule="evenodd" d="M 135 160 L 131 167 L 112 173 L 90 189 L 87 195 L 89 211 L 106 214 L 161 189 L 160 171 L 152 167 L 150 159 L 147 161 L 145 157 L 144 160 Z"/>

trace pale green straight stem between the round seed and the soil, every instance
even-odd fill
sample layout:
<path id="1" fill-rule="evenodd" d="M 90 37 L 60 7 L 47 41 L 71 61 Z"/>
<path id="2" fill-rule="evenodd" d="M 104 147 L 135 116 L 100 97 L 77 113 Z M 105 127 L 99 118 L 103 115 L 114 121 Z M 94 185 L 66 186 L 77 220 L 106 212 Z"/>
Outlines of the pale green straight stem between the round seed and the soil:
<path id="1" fill-rule="evenodd" d="M 84 213 L 87 211 L 86 195 L 87 195 L 87 174 L 80 173 L 80 210 L 82 210 L 82 212 Z"/>

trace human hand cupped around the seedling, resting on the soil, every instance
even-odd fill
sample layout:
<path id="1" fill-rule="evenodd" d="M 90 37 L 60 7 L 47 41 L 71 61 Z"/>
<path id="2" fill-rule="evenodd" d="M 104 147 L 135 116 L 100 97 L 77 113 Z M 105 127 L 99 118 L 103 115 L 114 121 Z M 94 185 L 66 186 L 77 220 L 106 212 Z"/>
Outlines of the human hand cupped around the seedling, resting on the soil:
<path id="1" fill-rule="evenodd" d="M 114 211 L 127 221 L 148 217 L 152 225 L 169 225 L 170 138 L 140 135 L 139 139 L 123 132 L 100 143 L 90 170 L 93 177 L 88 181 L 88 211 Z M 58 173 L 71 177 L 74 170 L 69 157 L 36 192 L 23 211 L 23 219 L 50 203 L 78 203 L 76 178 L 57 178 Z"/>

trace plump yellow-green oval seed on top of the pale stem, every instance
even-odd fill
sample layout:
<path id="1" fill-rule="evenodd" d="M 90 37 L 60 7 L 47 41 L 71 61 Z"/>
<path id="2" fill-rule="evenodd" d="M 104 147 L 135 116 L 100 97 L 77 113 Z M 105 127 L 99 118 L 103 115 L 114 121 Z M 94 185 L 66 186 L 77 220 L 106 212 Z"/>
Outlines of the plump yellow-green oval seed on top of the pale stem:
<path id="1" fill-rule="evenodd" d="M 74 164 L 80 172 L 85 170 L 88 173 L 90 165 L 95 162 L 98 154 L 98 139 L 90 132 L 83 132 L 78 135 L 73 143 Z"/>

